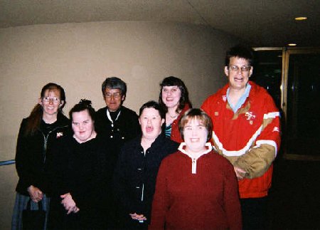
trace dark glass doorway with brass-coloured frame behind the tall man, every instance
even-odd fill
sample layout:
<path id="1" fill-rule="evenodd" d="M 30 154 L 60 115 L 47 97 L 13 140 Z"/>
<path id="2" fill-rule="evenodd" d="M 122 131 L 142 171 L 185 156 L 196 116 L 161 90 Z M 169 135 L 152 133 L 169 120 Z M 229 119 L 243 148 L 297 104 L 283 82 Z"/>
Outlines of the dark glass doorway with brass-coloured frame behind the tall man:
<path id="1" fill-rule="evenodd" d="M 320 160 L 320 48 L 254 48 L 251 80 L 264 87 L 282 115 L 280 154 Z"/>

